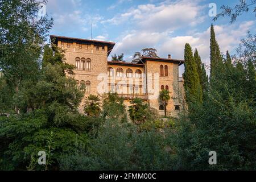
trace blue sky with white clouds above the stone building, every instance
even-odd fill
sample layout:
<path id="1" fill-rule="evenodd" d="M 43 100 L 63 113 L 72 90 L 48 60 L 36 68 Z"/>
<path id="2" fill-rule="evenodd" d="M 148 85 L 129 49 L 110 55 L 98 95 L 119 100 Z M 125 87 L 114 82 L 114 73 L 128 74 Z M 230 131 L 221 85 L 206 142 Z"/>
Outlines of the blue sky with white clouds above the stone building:
<path id="1" fill-rule="evenodd" d="M 115 42 L 108 57 L 124 53 L 131 61 L 134 52 L 142 48 L 155 48 L 159 57 L 184 59 L 184 46 L 197 48 L 203 63 L 209 64 L 210 24 L 213 23 L 221 52 L 235 53 L 246 32 L 256 32 L 253 13 L 238 16 L 230 24 L 228 17 L 213 21 L 209 16 L 210 3 L 217 13 L 221 5 L 234 6 L 238 0 L 48 0 L 47 14 L 54 25 L 49 34 Z M 184 67 L 180 67 L 180 75 Z M 208 70 L 209 72 L 209 70 Z"/>

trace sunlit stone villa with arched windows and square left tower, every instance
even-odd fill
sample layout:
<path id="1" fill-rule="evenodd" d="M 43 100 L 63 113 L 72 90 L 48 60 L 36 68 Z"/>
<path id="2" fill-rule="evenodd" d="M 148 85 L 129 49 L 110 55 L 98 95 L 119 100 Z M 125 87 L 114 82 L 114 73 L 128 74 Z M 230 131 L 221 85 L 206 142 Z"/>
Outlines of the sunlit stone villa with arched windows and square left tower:
<path id="1" fill-rule="evenodd" d="M 76 65 L 77 84 L 85 84 L 85 97 L 89 94 L 118 93 L 125 104 L 135 97 L 148 102 L 150 107 L 164 114 L 159 101 L 160 90 L 170 91 L 167 114 L 175 116 L 183 108 L 183 80 L 179 66 L 183 60 L 142 57 L 138 63 L 108 61 L 115 46 L 113 42 L 68 38 L 51 35 L 51 40 L 65 50 L 66 61 Z M 82 111 L 82 104 L 80 110 Z"/>

